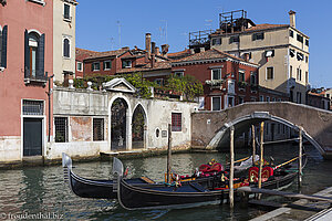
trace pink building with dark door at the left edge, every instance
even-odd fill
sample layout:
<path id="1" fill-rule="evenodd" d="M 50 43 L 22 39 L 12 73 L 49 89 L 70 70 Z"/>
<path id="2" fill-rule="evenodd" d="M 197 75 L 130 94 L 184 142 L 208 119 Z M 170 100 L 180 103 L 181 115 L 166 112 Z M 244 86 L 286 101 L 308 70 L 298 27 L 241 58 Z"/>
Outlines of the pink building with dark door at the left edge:
<path id="1" fill-rule="evenodd" d="M 42 158 L 52 134 L 53 1 L 0 4 L 0 161 Z"/>

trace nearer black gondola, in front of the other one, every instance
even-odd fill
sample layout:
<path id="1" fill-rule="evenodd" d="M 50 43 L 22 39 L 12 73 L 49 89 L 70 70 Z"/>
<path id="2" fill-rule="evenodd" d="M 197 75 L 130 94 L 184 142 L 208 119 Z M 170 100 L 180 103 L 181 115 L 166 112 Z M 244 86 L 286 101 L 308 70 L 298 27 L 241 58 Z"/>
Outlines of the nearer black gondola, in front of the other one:
<path id="1" fill-rule="evenodd" d="M 118 159 L 117 168 L 122 167 Z M 305 165 L 305 164 L 304 164 Z M 115 171 L 118 177 L 117 199 L 120 204 L 127 210 L 135 209 L 164 209 L 164 208 L 183 208 L 210 203 L 222 203 L 228 199 L 228 188 L 216 188 L 210 181 L 195 181 L 183 183 L 181 187 L 169 187 L 165 185 L 146 185 L 137 187 L 128 183 L 122 178 L 121 170 Z M 276 175 L 262 182 L 262 188 L 266 189 L 283 189 L 289 187 L 294 178 L 297 171 L 279 170 Z M 250 183 L 256 187 L 257 183 Z M 218 186 L 217 186 L 218 187 Z M 236 189 L 235 189 L 236 192 Z M 238 198 L 236 197 L 236 200 Z"/>

